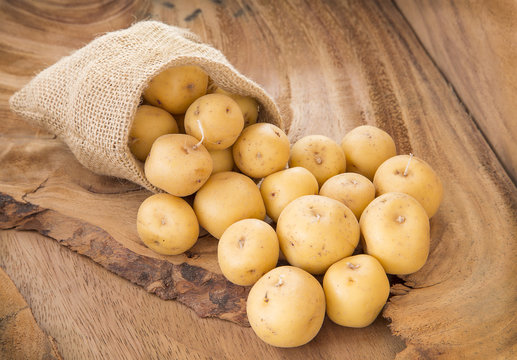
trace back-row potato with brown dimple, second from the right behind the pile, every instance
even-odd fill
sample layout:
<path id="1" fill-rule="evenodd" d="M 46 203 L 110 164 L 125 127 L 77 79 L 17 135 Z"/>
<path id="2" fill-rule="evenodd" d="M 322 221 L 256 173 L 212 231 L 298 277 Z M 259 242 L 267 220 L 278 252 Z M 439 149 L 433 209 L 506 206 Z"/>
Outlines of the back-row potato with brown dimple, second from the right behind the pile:
<path id="1" fill-rule="evenodd" d="M 309 170 L 321 186 L 332 176 L 345 172 L 345 153 L 334 140 L 326 136 L 305 136 L 291 148 L 289 167 L 296 166 Z"/>

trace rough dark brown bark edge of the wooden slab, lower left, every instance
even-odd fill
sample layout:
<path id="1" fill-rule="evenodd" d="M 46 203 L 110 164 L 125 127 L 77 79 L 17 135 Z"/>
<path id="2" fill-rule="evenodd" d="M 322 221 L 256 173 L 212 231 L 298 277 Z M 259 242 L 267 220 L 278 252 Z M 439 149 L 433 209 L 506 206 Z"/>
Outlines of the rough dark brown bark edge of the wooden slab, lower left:
<path id="1" fill-rule="evenodd" d="M 8 195 L 0 195 L 0 229 L 35 230 L 164 300 L 186 304 L 199 316 L 219 317 L 249 326 L 246 318 L 249 289 L 230 283 L 221 274 L 187 262 L 175 265 L 134 253 L 100 227 L 15 201 Z M 193 254 L 191 250 L 187 256 Z"/>

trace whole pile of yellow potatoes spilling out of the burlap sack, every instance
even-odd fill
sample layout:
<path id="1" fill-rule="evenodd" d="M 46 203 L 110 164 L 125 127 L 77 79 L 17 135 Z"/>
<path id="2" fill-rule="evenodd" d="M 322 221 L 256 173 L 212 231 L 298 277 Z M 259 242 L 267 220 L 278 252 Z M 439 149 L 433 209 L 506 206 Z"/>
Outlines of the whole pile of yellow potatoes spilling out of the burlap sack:
<path id="1" fill-rule="evenodd" d="M 219 239 L 221 271 L 253 285 L 248 319 L 271 345 L 309 342 L 325 313 L 368 326 L 388 299 L 386 274 L 427 260 L 440 179 L 412 154 L 397 156 L 391 136 L 372 126 L 341 144 L 310 135 L 291 147 L 280 128 L 257 123 L 253 99 L 215 89 L 200 68 L 182 66 L 144 93 L 151 105 L 139 108 L 129 145 L 165 193 L 138 211 L 142 241 L 175 255 L 195 244 L 199 226 Z M 181 198 L 192 194 L 193 207 Z M 276 267 L 281 254 L 290 266 Z"/>

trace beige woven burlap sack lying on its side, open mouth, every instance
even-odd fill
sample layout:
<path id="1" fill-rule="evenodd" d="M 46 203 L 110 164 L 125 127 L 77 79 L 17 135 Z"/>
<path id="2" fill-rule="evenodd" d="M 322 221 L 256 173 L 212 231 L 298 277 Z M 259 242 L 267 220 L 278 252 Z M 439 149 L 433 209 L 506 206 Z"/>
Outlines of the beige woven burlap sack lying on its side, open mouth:
<path id="1" fill-rule="evenodd" d="M 150 79 L 195 64 L 228 91 L 252 96 L 260 119 L 283 128 L 273 99 L 224 55 L 187 30 L 143 21 L 107 33 L 38 74 L 9 100 L 27 121 L 56 134 L 91 171 L 157 191 L 128 147 L 129 130 Z"/>

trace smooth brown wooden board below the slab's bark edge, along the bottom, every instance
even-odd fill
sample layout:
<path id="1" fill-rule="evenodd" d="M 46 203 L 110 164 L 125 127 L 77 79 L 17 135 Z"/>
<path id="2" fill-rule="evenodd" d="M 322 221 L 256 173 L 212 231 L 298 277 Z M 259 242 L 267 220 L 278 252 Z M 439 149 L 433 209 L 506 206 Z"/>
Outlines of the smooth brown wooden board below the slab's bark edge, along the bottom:
<path id="1" fill-rule="evenodd" d="M 34 232 L 0 232 L 0 266 L 64 359 L 390 359 L 404 348 L 382 318 L 359 331 L 326 320 L 309 345 L 273 348 L 249 327 L 199 318 Z"/>

